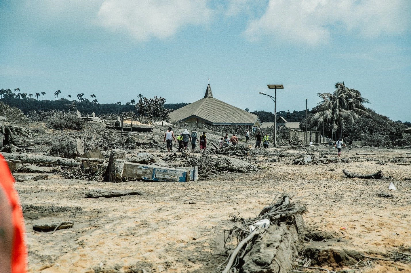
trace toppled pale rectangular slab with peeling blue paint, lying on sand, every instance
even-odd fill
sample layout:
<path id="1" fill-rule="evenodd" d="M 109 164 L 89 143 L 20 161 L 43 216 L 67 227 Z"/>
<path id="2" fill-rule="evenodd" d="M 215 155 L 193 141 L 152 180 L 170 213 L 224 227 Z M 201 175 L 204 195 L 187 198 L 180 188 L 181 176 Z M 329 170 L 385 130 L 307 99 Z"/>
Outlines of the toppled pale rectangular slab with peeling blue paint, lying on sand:
<path id="1" fill-rule="evenodd" d="M 159 167 L 155 165 L 145 165 L 139 163 L 125 162 L 123 177 L 151 180 L 151 181 L 187 181 L 187 170 L 180 170 L 169 167 Z"/>

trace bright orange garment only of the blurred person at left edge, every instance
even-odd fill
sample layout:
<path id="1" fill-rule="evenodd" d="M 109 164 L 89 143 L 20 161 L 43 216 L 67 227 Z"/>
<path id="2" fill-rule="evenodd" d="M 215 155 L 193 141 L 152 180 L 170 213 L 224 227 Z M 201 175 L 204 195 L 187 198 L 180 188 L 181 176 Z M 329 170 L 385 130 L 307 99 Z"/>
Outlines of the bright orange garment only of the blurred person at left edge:
<path id="1" fill-rule="evenodd" d="M 17 191 L 14 189 L 14 178 L 10 173 L 9 166 L 0 155 L 0 187 L 12 205 L 12 220 L 14 227 L 13 249 L 12 249 L 12 273 L 26 272 L 27 248 L 24 242 L 24 218 L 19 204 Z"/>

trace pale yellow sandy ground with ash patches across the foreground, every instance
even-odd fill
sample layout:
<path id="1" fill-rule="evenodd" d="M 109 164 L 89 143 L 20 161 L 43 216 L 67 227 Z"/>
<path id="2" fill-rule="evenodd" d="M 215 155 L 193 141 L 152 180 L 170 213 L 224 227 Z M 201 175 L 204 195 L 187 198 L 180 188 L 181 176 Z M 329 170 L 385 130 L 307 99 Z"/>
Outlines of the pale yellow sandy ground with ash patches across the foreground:
<path id="1" fill-rule="evenodd" d="M 377 155 L 355 155 L 370 150 Z M 407 152 L 344 149 L 342 157 L 353 162 L 292 165 L 291 158 L 282 158 L 261 172 L 215 175 L 207 181 L 186 183 L 111 184 L 58 175 L 19 182 L 16 188 L 25 212 L 30 272 L 213 272 L 226 259 L 223 232 L 235 225 L 232 216 L 256 216 L 277 193 L 287 193 L 307 205 L 307 227 L 335 232 L 346 239 L 347 247 L 385 253 L 411 245 L 411 181 L 404 180 L 411 178 L 411 166 L 388 162 L 392 156 L 411 156 Z M 376 161 L 386 163 L 377 165 Z M 358 173 L 382 169 L 393 177 L 397 190 L 390 193 L 394 197 L 378 196 L 388 192 L 390 181 L 344 178 L 344 168 Z M 144 194 L 84 198 L 94 188 L 133 189 Z M 32 224 L 38 218 L 72 220 L 74 228 L 53 234 L 34 232 Z M 375 260 L 373 267 L 360 269 L 397 270 L 411 272 L 411 266 Z"/>

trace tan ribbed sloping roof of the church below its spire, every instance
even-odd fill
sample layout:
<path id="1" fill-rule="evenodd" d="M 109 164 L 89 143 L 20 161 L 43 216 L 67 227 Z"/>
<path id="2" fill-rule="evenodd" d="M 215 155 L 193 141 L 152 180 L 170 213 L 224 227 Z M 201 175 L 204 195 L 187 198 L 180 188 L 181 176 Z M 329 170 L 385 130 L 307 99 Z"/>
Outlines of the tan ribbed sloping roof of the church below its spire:
<path id="1" fill-rule="evenodd" d="M 169 116 L 170 122 L 197 117 L 211 124 L 253 125 L 257 120 L 261 124 L 257 115 L 209 96 L 174 110 Z"/>

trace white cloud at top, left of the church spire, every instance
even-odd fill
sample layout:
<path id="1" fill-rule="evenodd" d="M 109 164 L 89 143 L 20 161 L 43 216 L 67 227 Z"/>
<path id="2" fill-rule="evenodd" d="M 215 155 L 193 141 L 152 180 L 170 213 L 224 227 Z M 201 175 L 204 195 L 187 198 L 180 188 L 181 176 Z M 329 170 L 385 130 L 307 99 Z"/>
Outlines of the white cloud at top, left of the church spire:
<path id="1" fill-rule="evenodd" d="M 97 23 L 126 31 L 138 41 L 164 39 L 187 25 L 206 24 L 212 11 L 207 0 L 105 0 Z"/>

